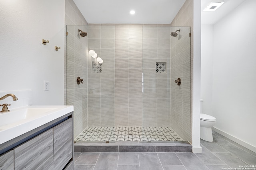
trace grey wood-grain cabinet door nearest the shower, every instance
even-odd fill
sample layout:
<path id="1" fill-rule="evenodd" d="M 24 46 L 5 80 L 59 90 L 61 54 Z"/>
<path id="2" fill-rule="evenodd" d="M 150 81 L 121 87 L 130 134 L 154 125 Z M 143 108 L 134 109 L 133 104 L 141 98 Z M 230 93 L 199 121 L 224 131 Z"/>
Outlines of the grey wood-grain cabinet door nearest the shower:
<path id="1" fill-rule="evenodd" d="M 63 169 L 73 156 L 72 118 L 53 128 L 54 169 Z"/>

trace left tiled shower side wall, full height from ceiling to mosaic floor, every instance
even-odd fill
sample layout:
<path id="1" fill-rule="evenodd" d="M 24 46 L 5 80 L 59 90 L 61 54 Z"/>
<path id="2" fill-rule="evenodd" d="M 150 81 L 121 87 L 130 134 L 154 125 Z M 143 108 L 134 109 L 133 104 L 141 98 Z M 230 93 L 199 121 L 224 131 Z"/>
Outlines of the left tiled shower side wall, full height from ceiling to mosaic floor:
<path id="1" fill-rule="evenodd" d="M 88 23 L 73 0 L 65 0 L 65 92 L 66 105 L 74 106 L 74 137 L 87 127 L 87 63 L 88 36 L 81 37 L 78 28 L 88 32 Z M 83 84 L 77 84 L 80 76 Z"/>

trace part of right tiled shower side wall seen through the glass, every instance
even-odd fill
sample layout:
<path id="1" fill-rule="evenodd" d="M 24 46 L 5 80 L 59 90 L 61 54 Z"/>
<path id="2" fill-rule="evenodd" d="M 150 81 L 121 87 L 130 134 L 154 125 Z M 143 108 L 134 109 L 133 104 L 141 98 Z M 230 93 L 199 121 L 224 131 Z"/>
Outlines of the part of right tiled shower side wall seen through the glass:
<path id="1" fill-rule="evenodd" d="M 171 37 L 171 127 L 190 141 L 190 27 L 171 27 L 178 29 L 178 36 Z"/>

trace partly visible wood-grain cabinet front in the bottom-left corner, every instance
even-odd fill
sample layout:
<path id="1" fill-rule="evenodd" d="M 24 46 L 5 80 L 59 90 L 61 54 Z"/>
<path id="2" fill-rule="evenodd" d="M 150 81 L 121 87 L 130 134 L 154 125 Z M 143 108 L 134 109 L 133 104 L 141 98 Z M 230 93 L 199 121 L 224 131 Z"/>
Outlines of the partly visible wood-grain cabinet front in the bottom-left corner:
<path id="1" fill-rule="evenodd" d="M 13 150 L 10 150 L 0 156 L 0 170 L 14 170 Z"/>

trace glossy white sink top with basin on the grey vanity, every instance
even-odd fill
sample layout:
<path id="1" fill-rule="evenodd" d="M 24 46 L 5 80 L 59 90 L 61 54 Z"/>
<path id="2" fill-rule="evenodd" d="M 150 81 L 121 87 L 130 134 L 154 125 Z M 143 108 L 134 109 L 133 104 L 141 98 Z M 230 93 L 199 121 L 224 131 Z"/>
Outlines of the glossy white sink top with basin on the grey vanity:
<path id="1" fill-rule="evenodd" d="M 10 109 L 10 108 L 9 108 Z M 73 106 L 25 106 L 0 113 L 0 144 L 74 111 Z"/>

